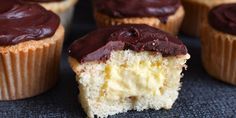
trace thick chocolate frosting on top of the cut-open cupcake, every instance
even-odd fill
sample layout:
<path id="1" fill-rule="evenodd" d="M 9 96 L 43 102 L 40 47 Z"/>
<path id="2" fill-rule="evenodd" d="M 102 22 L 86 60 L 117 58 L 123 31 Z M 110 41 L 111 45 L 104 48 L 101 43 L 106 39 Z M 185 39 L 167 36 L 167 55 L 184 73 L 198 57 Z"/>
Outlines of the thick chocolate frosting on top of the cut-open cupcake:
<path id="1" fill-rule="evenodd" d="M 69 55 L 79 62 L 105 61 L 111 51 L 150 51 L 163 56 L 184 55 L 185 45 L 174 36 L 147 25 L 120 25 L 98 29 L 76 40 Z"/>

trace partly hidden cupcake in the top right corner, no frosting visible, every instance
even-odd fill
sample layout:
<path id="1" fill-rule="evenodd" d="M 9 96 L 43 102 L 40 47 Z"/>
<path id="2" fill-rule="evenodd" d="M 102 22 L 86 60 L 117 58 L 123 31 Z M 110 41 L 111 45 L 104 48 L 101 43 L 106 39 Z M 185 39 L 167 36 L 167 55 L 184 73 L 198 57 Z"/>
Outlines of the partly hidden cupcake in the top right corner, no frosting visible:
<path id="1" fill-rule="evenodd" d="M 204 19 L 207 19 L 209 10 L 219 4 L 233 3 L 236 0 L 182 0 L 185 17 L 181 31 L 187 35 L 198 37 Z"/>

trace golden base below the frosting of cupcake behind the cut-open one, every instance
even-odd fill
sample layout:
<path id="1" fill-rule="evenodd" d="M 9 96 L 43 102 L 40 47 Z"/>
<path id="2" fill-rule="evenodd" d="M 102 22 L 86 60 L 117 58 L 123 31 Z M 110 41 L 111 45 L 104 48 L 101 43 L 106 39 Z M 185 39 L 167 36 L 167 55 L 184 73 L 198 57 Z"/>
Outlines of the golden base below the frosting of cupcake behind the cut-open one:
<path id="1" fill-rule="evenodd" d="M 181 6 L 174 15 L 168 17 L 167 23 L 161 23 L 156 17 L 143 18 L 111 18 L 98 11 L 94 12 L 98 27 L 109 27 L 121 24 L 147 24 L 152 27 L 162 29 L 166 32 L 176 35 L 184 17 L 184 9 Z"/>

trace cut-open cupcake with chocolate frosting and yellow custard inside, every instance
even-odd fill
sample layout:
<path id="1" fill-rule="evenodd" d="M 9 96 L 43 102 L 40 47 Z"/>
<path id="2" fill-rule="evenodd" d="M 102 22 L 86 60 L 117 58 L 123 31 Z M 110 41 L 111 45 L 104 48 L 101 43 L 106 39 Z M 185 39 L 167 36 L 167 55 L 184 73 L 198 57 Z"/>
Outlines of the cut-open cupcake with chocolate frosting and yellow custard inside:
<path id="1" fill-rule="evenodd" d="M 170 109 L 190 58 L 174 36 L 148 25 L 101 28 L 75 41 L 69 63 L 88 117 Z"/>

